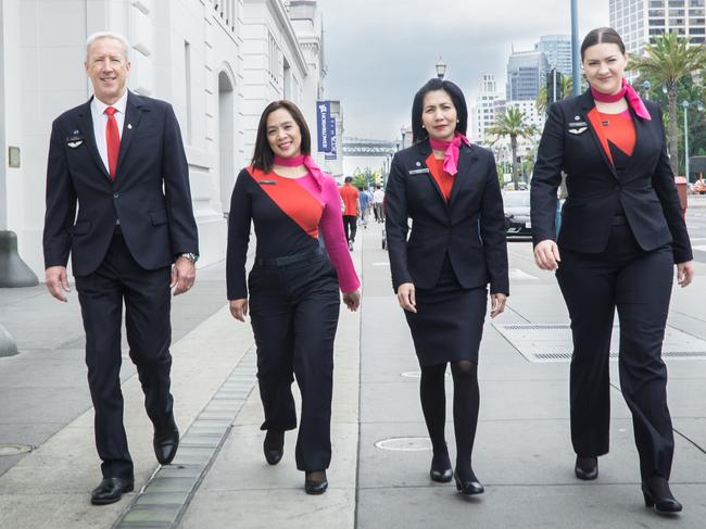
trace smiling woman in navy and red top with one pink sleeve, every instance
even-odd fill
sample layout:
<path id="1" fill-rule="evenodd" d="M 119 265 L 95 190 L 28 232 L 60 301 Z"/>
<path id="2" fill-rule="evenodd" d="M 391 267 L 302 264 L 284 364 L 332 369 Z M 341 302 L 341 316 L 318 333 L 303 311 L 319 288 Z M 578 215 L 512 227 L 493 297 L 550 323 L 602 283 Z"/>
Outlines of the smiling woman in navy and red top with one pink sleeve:
<path id="1" fill-rule="evenodd" d="M 268 104 L 257 126 L 252 165 L 240 172 L 232 191 L 226 279 L 232 316 L 244 322 L 250 308 L 265 412 L 261 429 L 267 432 L 265 458 L 276 465 L 285 431 L 297 428 L 291 391 L 295 375 L 302 394 L 297 468 L 305 473 L 305 491 L 320 494 L 328 487 L 331 461 L 339 288 L 346 306 L 356 311 L 361 281 L 345 244 L 338 187 L 310 153 L 311 135 L 297 105 Z M 251 221 L 257 245 L 245 285 Z"/>

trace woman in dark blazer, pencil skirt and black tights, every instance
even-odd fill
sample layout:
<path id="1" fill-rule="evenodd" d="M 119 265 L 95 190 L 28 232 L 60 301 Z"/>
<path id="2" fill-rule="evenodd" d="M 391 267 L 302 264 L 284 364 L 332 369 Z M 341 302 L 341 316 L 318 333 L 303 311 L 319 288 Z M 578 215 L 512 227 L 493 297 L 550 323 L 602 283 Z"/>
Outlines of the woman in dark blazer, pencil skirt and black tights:
<path id="1" fill-rule="evenodd" d="M 490 151 L 464 134 L 461 89 L 431 79 L 412 106 L 414 144 L 392 159 L 386 229 L 392 287 L 421 366 L 420 398 L 433 448 L 430 477 L 451 481 L 444 374 L 454 380 L 456 488 L 483 492 L 470 464 L 480 402 L 478 348 L 490 284 L 495 317 L 509 292 L 503 201 Z M 407 219 L 412 234 L 407 240 Z"/>

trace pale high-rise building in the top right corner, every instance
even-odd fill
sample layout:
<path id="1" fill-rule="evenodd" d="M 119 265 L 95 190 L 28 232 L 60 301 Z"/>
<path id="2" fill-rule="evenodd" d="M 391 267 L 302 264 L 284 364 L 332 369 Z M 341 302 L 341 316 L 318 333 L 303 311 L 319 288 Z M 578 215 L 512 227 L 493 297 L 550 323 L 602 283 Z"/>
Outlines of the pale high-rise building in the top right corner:
<path id="1" fill-rule="evenodd" d="M 620 34 L 629 53 L 642 54 L 645 45 L 665 32 L 703 45 L 705 4 L 705 0 L 610 0 L 610 26 Z"/>

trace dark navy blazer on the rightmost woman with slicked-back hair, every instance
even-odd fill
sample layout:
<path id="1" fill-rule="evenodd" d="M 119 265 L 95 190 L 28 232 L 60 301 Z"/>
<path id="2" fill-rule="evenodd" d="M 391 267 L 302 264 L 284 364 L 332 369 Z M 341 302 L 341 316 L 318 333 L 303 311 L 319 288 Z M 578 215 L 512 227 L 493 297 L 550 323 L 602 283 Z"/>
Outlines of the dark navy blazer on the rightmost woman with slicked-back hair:
<path id="1" fill-rule="evenodd" d="M 675 263 L 690 261 L 691 244 L 669 167 L 659 105 L 645 101 L 651 121 L 632 110 L 636 142 L 623 174 L 616 173 L 588 117 L 595 106 L 590 90 L 550 106 L 531 190 L 534 244 L 556 238 L 556 190 L 567 174 L 558 245 L 584 253 L 605 250 L 618 202 L 645 251 L 672 244 Z"/>

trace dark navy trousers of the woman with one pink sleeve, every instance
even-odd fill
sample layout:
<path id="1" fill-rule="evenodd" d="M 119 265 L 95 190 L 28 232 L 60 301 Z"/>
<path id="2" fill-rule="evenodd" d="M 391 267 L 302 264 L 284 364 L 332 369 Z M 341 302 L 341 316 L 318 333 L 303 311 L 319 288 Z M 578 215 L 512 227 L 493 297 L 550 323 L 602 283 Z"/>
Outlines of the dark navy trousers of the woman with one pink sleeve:
<path id="1" fill-rule="evenodd" d="M 322 470 L 331 461 L 333 339 L 338 327 L 338 277 L 315 252 L 291 265 L 250 272 L 250 317 L 257 345 L 257 380 L 265 412 L 262 430 L 297 428 L 291 385 L 302 395 L 297 468 Z"/>

